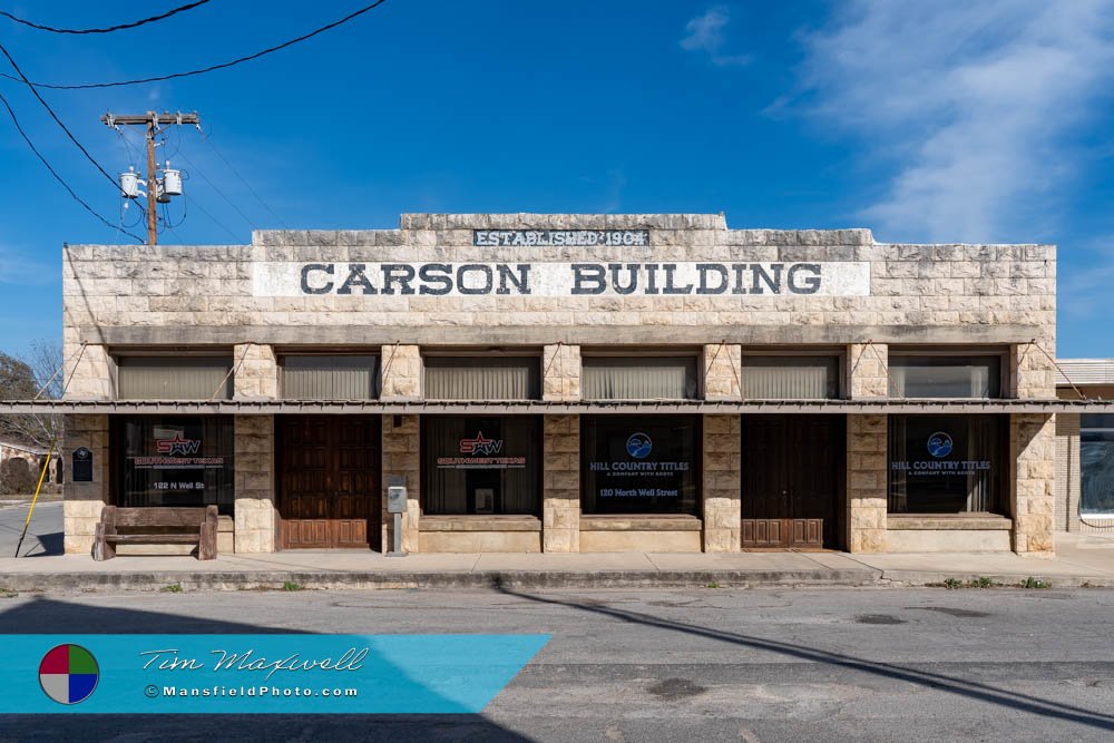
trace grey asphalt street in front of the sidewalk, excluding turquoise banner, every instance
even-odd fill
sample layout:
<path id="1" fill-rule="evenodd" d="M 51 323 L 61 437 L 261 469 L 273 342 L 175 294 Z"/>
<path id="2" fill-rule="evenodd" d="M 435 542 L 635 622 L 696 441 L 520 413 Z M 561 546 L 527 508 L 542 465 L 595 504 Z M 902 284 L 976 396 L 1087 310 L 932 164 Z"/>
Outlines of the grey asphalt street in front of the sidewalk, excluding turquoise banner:
<path id="1" fill-rule="evenodd" d="M 1114 592 L 20 595 L 0 633 L 549 633 L 480 715 L 20 715 L 2 741 L 1110 741 Z"/>

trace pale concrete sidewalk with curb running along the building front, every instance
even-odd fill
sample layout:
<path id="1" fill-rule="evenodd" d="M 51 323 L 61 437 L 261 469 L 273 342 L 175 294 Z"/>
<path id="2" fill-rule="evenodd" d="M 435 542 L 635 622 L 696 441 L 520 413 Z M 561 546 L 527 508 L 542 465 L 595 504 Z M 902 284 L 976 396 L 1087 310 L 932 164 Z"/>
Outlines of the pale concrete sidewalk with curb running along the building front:
<path id="1" fill-rule="evenodd" d="M 38 556 L 0 559 L 8 590 L 282 588 L 645 588 L 759 586 L 924 586 L 989 578 L 1018 585 L 1114 587 L 1114 535 L 1059 535 L 1055 559 L 1013 554 L 849 555 L 844 553 L 410 555 L 285 551 L 192 557 Z"/>

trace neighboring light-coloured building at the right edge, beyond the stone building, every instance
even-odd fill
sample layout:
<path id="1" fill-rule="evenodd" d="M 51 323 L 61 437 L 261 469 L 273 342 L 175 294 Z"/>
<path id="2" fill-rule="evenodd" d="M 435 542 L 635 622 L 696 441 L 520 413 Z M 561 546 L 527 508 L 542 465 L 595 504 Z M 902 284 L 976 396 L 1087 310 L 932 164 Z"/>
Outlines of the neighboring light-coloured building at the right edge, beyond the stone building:
<path id="1" fill-rule="evenodd" d="M 1114 359 L 1061 359 L 1064 400 L 1114 400 Z M 1114 531 L 1114 409 L 1056 416 L 1056 529 Z"/>

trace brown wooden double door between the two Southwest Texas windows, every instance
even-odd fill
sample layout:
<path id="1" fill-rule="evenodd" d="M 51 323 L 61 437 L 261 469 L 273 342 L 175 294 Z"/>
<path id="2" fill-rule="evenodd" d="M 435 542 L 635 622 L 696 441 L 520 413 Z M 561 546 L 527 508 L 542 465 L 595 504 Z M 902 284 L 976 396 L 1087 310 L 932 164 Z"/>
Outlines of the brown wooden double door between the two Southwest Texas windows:
<path id="1" fill-rule="evenodd" d="M 280 416 L 282 548 L 370 548 L 381 541 L 377 417 Z"/>

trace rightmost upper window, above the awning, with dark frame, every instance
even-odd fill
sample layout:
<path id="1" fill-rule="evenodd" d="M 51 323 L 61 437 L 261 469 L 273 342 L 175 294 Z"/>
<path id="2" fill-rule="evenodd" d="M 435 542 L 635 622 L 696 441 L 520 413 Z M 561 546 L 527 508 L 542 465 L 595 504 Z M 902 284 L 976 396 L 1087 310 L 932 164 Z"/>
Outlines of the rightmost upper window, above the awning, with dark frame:
<path id="1" fill-rule="evenodd" d="M 890 354 L 891 398 L 1000 398 L 998 356 Z"/>

